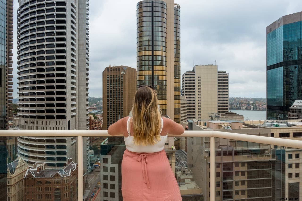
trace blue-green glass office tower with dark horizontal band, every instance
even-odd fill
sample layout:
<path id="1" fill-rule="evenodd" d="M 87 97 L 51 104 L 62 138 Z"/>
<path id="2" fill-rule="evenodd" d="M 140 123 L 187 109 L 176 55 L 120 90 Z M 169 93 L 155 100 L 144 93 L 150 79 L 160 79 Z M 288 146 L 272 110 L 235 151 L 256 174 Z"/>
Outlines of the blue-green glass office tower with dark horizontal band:
<path id="1" fill-rule="evenodd" d="M 287 119 L 302 99 L 302 12 L 282 16 L 266 27 L 267 119 Z"/>

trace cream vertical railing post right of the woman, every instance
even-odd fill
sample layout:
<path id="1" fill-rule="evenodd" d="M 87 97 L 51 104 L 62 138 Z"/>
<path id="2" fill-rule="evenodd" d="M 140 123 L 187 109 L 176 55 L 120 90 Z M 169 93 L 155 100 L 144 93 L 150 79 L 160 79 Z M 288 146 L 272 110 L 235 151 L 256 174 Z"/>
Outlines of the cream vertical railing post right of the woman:
<path id="1" fill-rule="evenodd" d="M 215 200 L 215 138 L 210 137 L 210 201 Z"/>

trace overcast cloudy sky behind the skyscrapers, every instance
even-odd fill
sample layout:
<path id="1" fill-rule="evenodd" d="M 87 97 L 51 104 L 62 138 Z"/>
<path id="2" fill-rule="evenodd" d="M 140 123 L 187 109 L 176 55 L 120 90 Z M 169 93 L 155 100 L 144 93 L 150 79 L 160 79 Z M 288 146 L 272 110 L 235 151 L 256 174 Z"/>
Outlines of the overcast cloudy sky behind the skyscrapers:
<path id="1" fill-rule="evenodd" d="M 109 64 L 136 68 L 138 0 L 90 0 L 89 96 L 102 97 Z M 266 97 L 265 29 L 302 11 L 301 0 L 175 0 L 181 5 L 181 74 L 214 63 L 230 73 L 230 97 Z M 14 0 L 17 14 L 18 1 Z M 14 97 L 17 95 L 17 24 L 14 15 Z"/>

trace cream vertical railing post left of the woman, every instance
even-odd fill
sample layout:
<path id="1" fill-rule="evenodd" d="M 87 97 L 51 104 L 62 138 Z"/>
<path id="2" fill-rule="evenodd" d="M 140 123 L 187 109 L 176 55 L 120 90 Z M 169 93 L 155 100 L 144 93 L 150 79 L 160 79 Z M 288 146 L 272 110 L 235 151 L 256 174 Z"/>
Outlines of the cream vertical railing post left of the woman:
<path id="1" fill-rule="evenodd" d="M 83 200 L 83 137 L 78 136 L 78 200 Z"/>

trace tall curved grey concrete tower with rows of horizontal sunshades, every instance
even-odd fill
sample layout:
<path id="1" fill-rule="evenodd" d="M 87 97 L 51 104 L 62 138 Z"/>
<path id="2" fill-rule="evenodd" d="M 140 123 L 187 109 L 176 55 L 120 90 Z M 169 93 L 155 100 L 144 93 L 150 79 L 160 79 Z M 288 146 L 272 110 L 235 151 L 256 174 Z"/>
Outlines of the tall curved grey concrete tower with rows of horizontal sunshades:
<path id="1" fill-rule="evenodd" d="M 88 56 L 89 1 L 19 0 L 20 129 L 87 129 Z M 35 162 L 63 167 L 67 158 L 76 159 L 75 137 L 20 137 L 18 142 L 18 154 L 30 167 Z M 83 146 L 87 152 L 86 139 Z"/>

